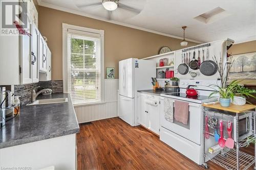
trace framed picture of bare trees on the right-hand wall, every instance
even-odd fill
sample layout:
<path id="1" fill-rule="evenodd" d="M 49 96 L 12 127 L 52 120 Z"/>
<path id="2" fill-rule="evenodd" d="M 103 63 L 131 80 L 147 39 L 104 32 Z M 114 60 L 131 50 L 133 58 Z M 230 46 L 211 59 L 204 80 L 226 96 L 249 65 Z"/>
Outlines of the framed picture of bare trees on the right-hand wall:
<path id="1" fill-rule="evenodd" d="M 256 79 L 256 52 L 233 55 L 229 79 Z"/>

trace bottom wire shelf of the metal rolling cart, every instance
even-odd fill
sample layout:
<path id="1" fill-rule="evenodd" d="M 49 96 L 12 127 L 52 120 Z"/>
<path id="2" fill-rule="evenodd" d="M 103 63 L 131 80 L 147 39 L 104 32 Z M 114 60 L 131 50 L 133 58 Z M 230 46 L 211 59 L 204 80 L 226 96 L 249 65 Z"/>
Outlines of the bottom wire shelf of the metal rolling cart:
<path id="1" fill-rule="evenodd" d="M 230 169 L 237 169 L 236 149 L 223 149 L 221 153 L 210 159 L 218 165 Z M 248 169 L 255 162 L 255 157 L 239 151 L 239 169 Z"/>

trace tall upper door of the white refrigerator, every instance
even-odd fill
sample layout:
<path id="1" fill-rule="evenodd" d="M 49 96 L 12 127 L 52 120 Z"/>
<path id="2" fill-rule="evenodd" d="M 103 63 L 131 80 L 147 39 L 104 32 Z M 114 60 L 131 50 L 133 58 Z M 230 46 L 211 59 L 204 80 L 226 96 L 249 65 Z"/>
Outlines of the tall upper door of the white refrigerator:
<path id="1" fill-rule="evenodd" d="M 119 94 L 134 98 L 134 59 L 119 61 Z"/>

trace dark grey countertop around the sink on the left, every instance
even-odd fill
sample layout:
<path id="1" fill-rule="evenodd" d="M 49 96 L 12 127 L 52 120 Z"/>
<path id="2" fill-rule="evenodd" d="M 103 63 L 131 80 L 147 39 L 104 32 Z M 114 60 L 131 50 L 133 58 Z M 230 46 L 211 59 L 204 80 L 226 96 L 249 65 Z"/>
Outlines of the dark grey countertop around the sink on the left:
<path id="1" fill-rule="evenodd" d="M 68 98 L 67 103 L 20 107 L 20 114 L 0 129 L 0 149 L 79 132 L 68 93 L 39 95 L 38 99 Z"/>

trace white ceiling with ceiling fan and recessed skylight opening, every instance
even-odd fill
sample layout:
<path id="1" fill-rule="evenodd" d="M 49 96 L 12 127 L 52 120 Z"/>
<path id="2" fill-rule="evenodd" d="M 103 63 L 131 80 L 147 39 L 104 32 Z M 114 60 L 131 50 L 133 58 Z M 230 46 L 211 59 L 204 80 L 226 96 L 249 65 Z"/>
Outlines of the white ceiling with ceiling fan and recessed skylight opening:
<path id="1" fill-rule="evenodd" d="M 256 40 L 255 0 L 119 0 L 120 3 L 142 9 L 135 15 L 118 8 L 112 12 L 112 20 L 106 19 L 107 11 L 102 7 L 86 5 L 101 0 L 37 0 L 40 6 L 68 11 L 124 26 L 181 38 L 182 26 L 187 26 L 186 39 L 210 42 L 230 38 L 235 43 Z M 220 7 L 227 16 L 214 22 L 203 23 L 194 17 Z"/>

